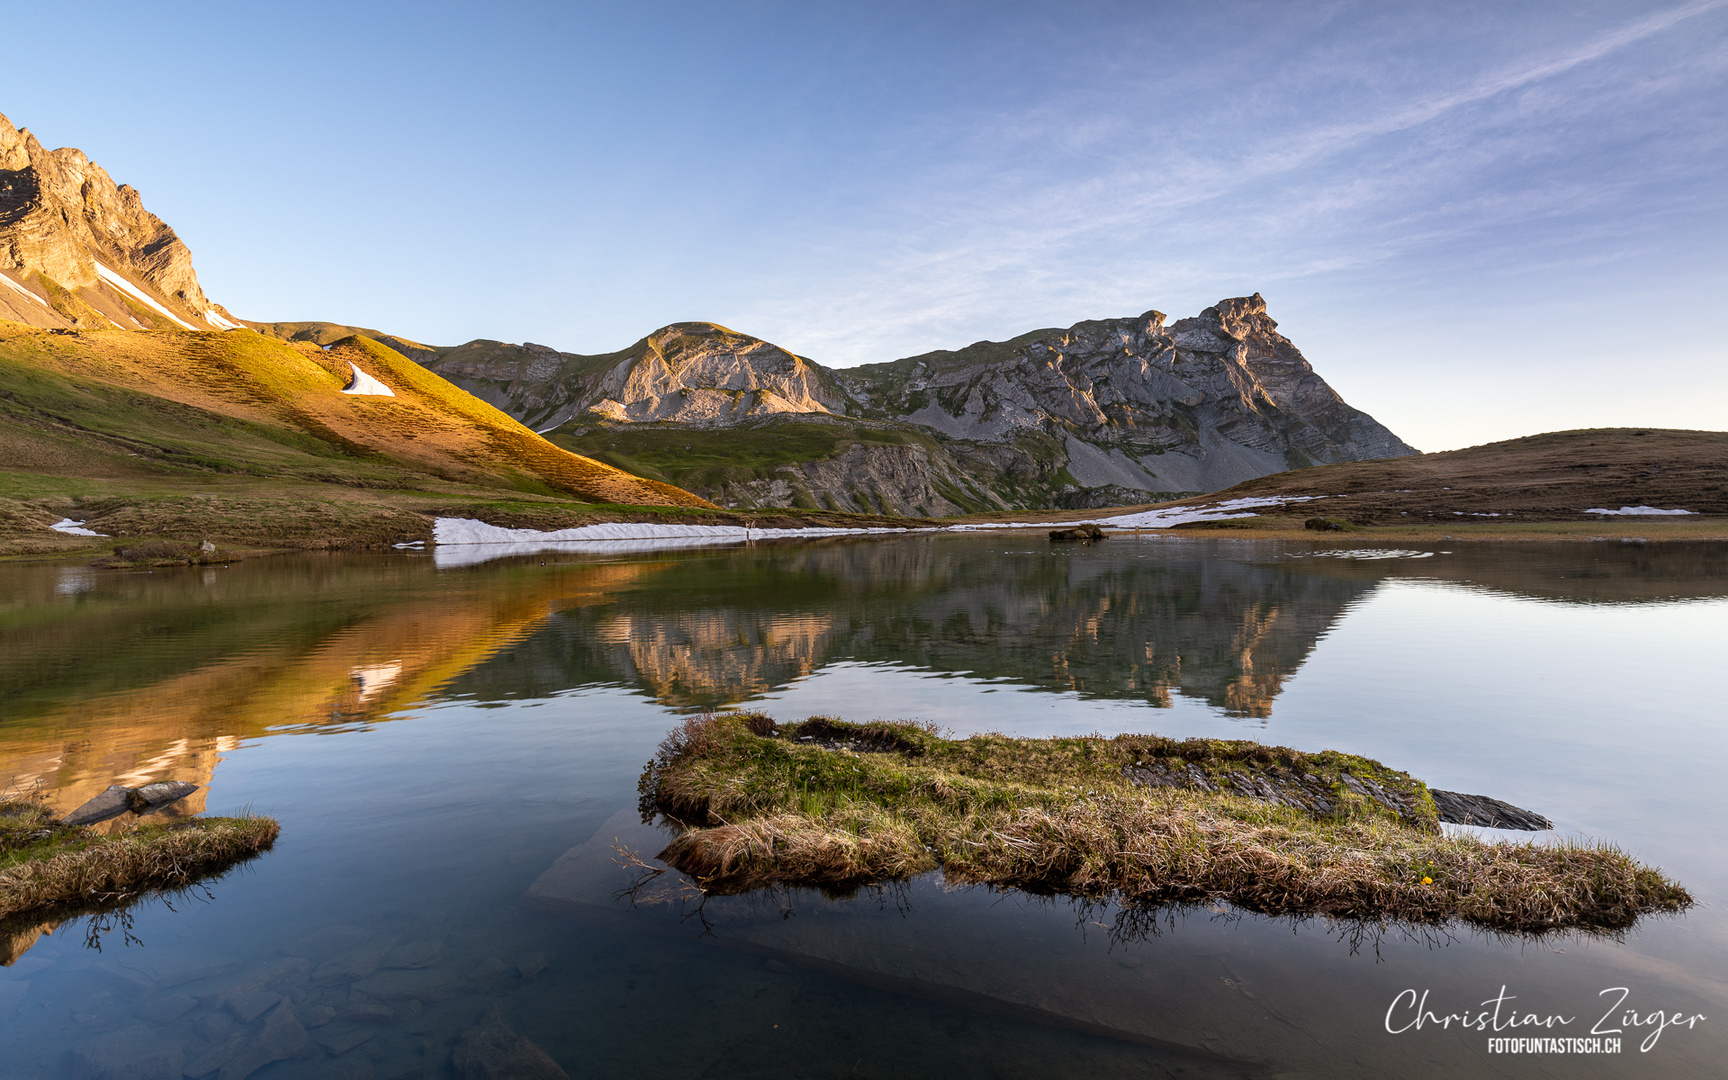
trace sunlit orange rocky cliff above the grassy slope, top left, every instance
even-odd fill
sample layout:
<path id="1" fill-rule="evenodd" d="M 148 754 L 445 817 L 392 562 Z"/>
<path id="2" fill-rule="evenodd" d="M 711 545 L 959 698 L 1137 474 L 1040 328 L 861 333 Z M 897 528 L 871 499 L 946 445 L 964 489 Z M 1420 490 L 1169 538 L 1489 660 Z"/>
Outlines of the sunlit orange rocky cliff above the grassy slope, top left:
<path id="1" fill-rule="evenodd" d="M 33 327 L 237 327 L 175 230 L 81 150 L 0 116 L 0 318 Z"/>

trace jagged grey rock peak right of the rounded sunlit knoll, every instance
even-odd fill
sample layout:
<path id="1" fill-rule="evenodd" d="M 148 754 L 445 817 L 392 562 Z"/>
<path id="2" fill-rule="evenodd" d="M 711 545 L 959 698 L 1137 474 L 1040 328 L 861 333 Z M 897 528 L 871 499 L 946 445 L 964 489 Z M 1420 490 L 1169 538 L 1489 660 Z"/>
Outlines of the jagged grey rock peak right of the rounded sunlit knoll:
<path id="1" fill-rule="evenodd" d="M 1173 327 L 1147 311 L 843 378 L 867 415 L 954 439 L 1058 437 L 1087 489 L 1218 491 L 1286 468 L 1415 453 L 1313 372 L 1260 294 Z"/>

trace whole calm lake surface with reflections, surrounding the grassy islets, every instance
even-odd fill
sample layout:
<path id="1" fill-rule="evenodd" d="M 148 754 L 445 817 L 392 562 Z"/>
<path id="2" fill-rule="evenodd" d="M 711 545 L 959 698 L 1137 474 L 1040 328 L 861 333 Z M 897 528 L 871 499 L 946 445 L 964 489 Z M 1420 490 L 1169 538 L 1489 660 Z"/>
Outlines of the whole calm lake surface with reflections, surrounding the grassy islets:
<path id="1" fill-rule="evenodd" d="M 190 779 L 183 812 L 282 823 L 130 926 L 7 928 L 0 1075 L 454 1077 L 453 1042 L 496 1014 L 572 1077 L 1721 1077 L 1725 670 L 1725 546 L 945 536 L 0 567 L 0 783 L 71 809 Z M 1623 940 L 1227 909 L 1123 940 L 1113 912 L 937 880 L 695 918 L 615 899 L 613 842 L 664 842 L 632 812 L 643 762 L 681 715 L 743 703 L 1348 750 L 1612 840 L 1700 905 Z M 1707 1020 L 1647 1052 L 1654 1028 L 1616 1020 L 1605 1056 L 1386 1030 L 1405 990 L 1446 1014 L 1502 987 L 1519 1016 L 1572 1018 L 1543 1035 L 1621 997 L 1616 1018 Z M 261 1063 L 271 1016 L 295 1056 Z"/>

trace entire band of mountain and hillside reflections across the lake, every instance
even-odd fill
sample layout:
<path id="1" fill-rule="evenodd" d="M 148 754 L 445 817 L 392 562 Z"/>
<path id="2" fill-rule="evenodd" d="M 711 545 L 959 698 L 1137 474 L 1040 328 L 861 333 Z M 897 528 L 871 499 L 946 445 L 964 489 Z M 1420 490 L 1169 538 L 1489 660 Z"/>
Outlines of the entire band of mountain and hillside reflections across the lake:
<path id="1" fill-rule="evenodd" d="M 69 809 L 111 783 L 204 785 L 240 740 L 425 700 L 626 686 L 738 705 L 836 662 L 1267 717 L 1358 600 L 1429 579 L 1567 603 L 1723 594 L 1721 544 L 1458 544 L 1429 558 L 1153 537 L 1047 548 L 911 537 L 619 562 L 285 556 L 154 574 L 7 567 L 0 755 Z"/>

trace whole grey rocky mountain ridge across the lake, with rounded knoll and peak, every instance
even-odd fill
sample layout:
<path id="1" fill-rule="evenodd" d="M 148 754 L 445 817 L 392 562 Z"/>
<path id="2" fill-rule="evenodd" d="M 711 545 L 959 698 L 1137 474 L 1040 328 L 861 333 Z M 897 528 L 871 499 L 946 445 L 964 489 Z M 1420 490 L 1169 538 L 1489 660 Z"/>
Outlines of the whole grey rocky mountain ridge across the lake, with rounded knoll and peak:
<path id="1" fill-rule="evenodd" d="M 415 354 L 574 451 L 724 506 L 1090 508 L 1415 453 L 1346 404 L 1255 294 L 831 370 L 714 323 L 600 356 Z"/>

